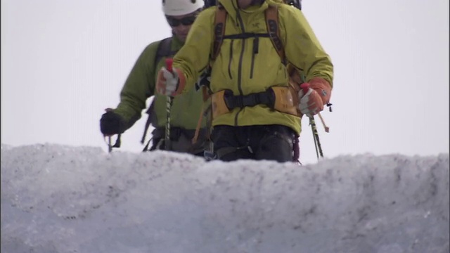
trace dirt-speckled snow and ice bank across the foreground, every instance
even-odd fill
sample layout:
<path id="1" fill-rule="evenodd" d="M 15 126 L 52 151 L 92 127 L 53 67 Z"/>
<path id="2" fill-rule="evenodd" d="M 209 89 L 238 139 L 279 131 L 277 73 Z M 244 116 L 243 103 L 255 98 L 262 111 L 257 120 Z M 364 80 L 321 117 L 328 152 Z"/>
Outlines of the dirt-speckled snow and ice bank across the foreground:
<path id="1" fill-rule="evenodd" d="M 1 252 L 449 252 L 449 154 L 297 166 L 1 145 Z"/>

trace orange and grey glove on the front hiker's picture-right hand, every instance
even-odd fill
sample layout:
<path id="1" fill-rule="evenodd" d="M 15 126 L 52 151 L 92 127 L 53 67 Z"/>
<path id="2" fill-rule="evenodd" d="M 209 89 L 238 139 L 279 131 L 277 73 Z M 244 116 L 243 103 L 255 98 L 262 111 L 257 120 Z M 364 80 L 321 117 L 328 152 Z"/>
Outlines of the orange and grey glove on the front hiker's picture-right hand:
<path id="1" fill-rule="evenodd" d="M 300 85 L 300 103 L 298 108 L 302 114 L 312 117 L 323 110 L 323 105 L 330 101 L 331 86 L 321 77 L 314 77 L 309 83 Z"/>

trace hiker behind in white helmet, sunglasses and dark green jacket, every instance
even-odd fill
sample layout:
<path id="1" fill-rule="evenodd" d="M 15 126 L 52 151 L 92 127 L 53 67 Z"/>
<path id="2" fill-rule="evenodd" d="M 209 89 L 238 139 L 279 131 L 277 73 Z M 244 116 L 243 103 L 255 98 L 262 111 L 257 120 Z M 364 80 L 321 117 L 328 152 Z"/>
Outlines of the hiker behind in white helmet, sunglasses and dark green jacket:
<path id="1" fill-rule="evenodd" d="M 122 134 L 141 118 L 146 108 L 146 100 L 153 97 L 148 108 L 148 124 L 152 124 L 153 143 L 150 150 L 165 150 L 166 96 L 156 92 L 155 81 L 158 70 L 165 64 L 165 58 L 172 57 L 183 46 L 191 25 L 203 8 L 203 1 L 165 0 L 162 1 L 167 22 L 172 27 L 172 37 L 155 41 L 143 50 L 136 60 L 120 92 L 120 103 L 100 119 L 101 132 L 105 136 Z M 190 89 L 173 100 L 170 108 L 170 150 L 203 155 L 207 147 L 205 120 L 200 123 L 198 138 L 193 143 L 195 129 L 203 108 L 201 91 Z M 148 126 L 146 124 L 146 126 Z M 147 127 L 146 127 L 147 128 Z M 145 139 L 145 134 L 142 143 Z M 144 150 L 147 150 L 144 148 Z"/>

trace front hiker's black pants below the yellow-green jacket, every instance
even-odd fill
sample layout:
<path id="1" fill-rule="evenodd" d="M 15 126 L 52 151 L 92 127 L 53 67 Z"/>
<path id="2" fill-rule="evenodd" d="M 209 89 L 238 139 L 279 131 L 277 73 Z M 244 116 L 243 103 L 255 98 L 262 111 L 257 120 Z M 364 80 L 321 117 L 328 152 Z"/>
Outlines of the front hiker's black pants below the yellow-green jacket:
<path id="1" fill-rule="evenodd" d="M 217 158 L 293 161 L 295 132 L 283 125 L 214 126 L 212 142 Z"/>

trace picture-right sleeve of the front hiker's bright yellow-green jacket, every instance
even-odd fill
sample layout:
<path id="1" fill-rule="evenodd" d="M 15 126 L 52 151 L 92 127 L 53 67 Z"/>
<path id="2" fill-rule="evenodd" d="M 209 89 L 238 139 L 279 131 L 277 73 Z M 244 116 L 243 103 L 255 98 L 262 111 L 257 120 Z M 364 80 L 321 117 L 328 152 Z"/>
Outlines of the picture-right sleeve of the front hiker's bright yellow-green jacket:
<path id="1" fill-rule="evenodd" d="M 284 8 L 283 8 L 284 7 Z M 333 63 L 323 50 L 302 11 L 290 6 L 280 8 L 281 37 L 285 39 L 288 61 L 304 72 L 306 82 L 313 77 L 326 79 L 333 87 Z M 287 7 L 287 8 L 286 8 Z"/>

